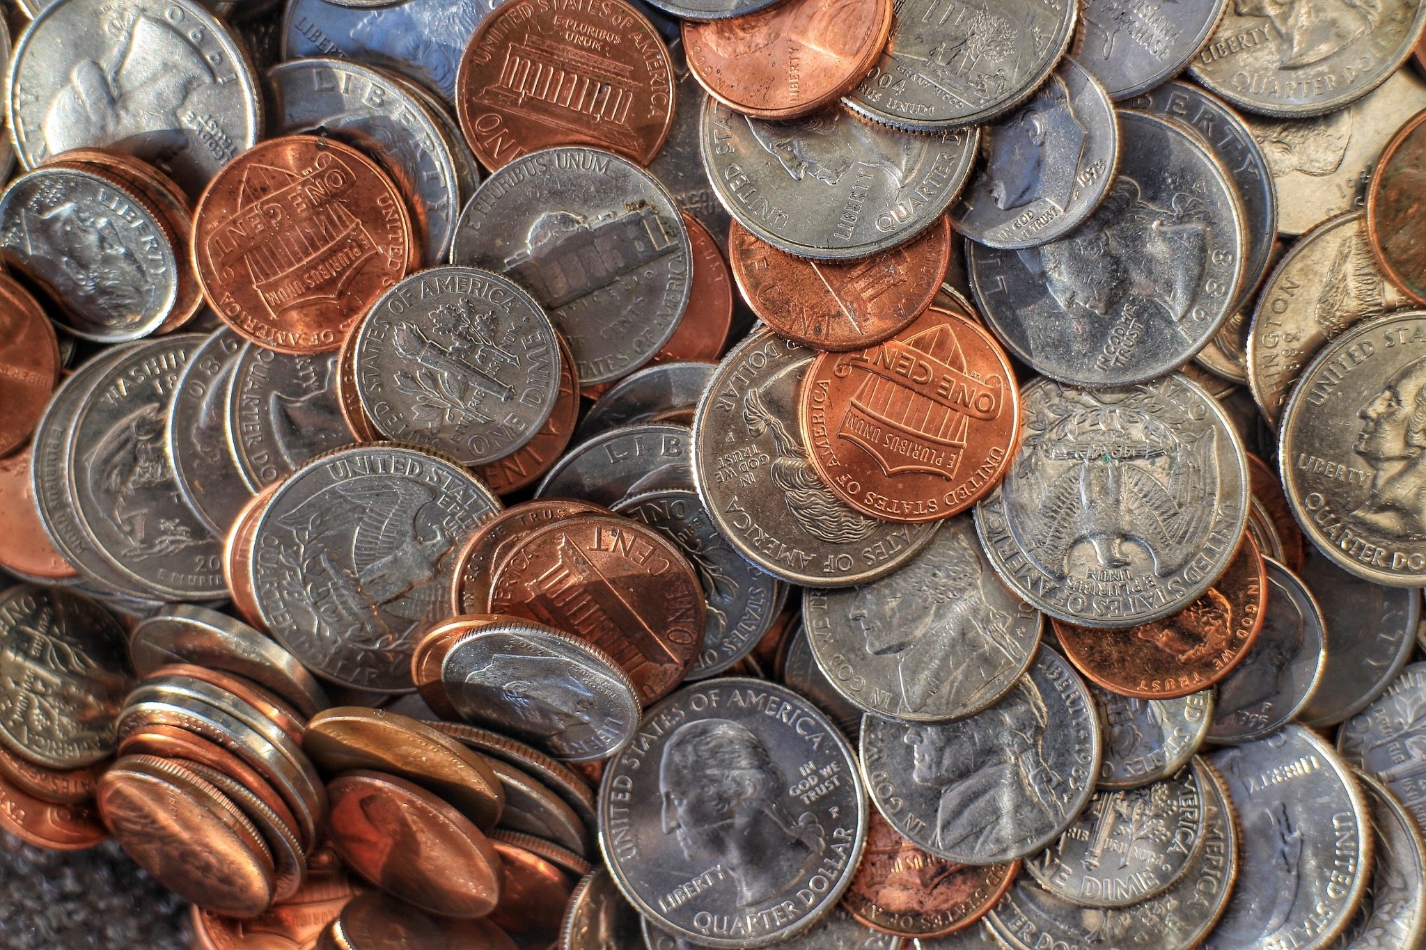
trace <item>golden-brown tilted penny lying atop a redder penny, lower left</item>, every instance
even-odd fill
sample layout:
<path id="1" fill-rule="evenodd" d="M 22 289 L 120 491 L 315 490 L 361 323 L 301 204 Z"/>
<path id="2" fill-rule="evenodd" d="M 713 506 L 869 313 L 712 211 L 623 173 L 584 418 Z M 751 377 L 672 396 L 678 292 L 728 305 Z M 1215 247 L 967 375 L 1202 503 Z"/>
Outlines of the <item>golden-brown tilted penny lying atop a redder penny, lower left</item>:
<path id="1" fill-rule="evenodd" d="M 485 756 L 409 716 L 325 709 L 308 724 L 302 751 L 327 775 L 368 769 L 419 785 L 481 830 L 495 828 L 505 808 L 505 790 Z"/>

